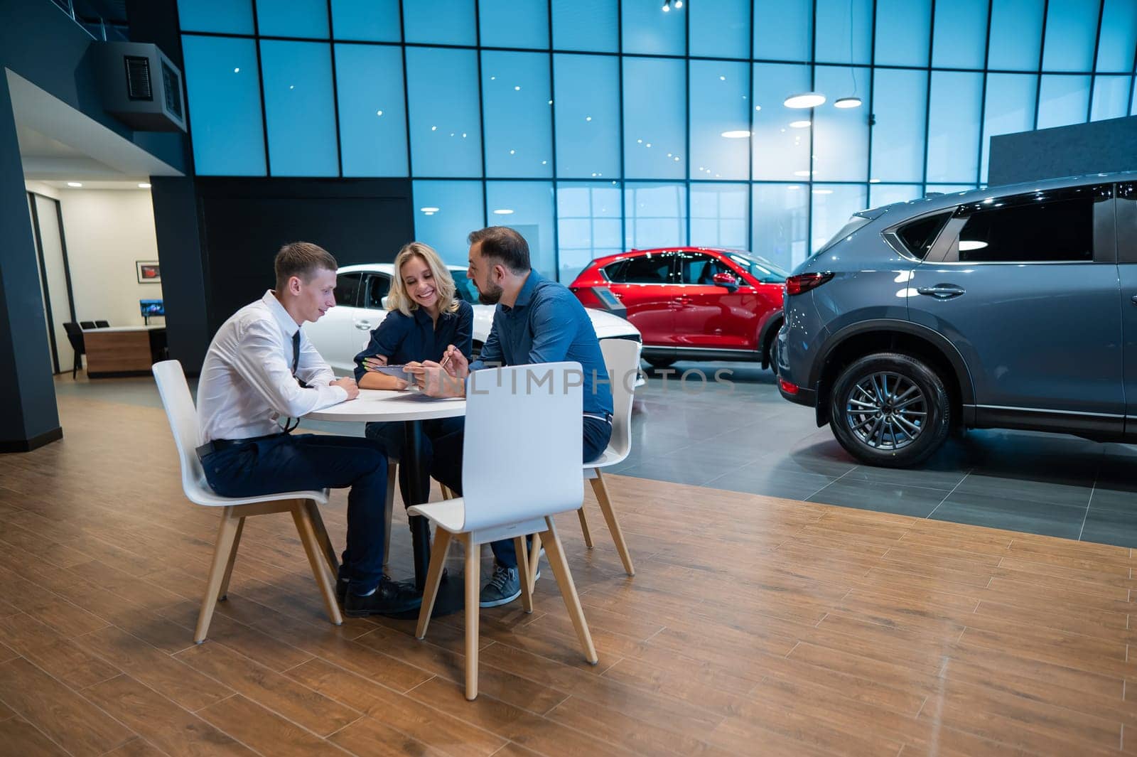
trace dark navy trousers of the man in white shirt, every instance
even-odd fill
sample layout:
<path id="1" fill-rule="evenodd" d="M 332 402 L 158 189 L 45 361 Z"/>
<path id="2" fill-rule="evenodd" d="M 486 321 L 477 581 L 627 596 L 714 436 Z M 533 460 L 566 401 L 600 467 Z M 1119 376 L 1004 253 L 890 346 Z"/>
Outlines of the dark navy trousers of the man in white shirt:
<path id="1" fill-rule="evenodd" d="M 281 434 L 210 452 L 201 459 L 209 486 L 222 497 L 257 497 L 302 489 L 351 488 L 348 543 L 340 580 L 356 594 L 383 575 L 387 455 L 368 439 Z"/>

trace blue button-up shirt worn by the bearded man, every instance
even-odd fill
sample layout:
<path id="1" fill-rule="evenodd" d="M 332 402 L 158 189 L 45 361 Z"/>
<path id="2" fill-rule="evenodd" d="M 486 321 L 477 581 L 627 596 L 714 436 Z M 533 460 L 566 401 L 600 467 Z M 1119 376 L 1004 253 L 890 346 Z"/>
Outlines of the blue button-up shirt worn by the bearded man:
<path id="1" fill-rule="evenodd" d="M 497 306 L 493 327 L 470 369 L 561 361 L 584 369 L 584 413 L 612 413 L 612 384 L 592 319 L 563 284 L 530 271 L 513 307 Z"/>

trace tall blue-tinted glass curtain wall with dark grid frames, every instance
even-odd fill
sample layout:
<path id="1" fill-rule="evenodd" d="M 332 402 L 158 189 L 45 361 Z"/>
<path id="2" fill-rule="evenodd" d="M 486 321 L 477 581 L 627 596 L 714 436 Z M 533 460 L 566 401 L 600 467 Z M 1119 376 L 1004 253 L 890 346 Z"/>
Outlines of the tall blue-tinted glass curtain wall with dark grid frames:
<path id="1" fill-rule="evenodd" d="M 792 268 L 987 182 L 998 134 L 1137 115 L 1137 0 L 180 0 L 197 173 L 408 177 L 416 235 Z M 813 108 L 787 98 L 819 92 Z M 857 105 L 857 101 L 860 102 Z M 853 106 L 853 107 L 840 107 Z"/>

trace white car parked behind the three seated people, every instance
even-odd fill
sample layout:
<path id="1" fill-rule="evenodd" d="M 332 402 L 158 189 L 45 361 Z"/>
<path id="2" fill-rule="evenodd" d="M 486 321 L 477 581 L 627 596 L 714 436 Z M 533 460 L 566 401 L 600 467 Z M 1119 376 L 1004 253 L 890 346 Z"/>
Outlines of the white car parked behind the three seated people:
<path id="1" fill-rule="evenodd" d="M 474 355 L 490 335 L 493 306 L 478 302 L 478 290 L 466 278 L 466 269 L 449 266 L 458 296 L 474 306 Z M 395 266 L 390 263 L 343 266 L 335 280 L 335 307 L 315 323 L 306 323 L 308 339 L 338 375 L 355 373 L 355 356 L 371 340 L 371 332 L 387 317 L 387 293 Z M 620 316 L 586 308 L 598 339 L 641 341 L 639 330 Z M 641 381 L 637 381 L 639 385 Z"/>

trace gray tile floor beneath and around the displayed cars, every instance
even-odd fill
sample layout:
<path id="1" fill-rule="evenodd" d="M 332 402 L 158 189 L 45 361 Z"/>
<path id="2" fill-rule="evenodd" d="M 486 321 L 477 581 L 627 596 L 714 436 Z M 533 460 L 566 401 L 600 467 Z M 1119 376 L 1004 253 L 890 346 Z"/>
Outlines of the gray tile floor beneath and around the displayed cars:
<path id="1" fill-rule="evenodd" d="M 970 431 L 913 469 L 858 465 L 747 364 L 684 364 L 637 390 L 632 451 L 612 472 L 843 507 L 1137 547 L 1137 447 Z M 731 371 L 715 382 L 716 371 Z M 729 383 L 728 383 L 729 382 Z M 56 380 L 59 394 L 160 407 L 149 378 Z M 301 423 L 363 435 L 363 425 Z M 64 430 L 66 433 L 66 429 Z M 697 506 L 697 504 L 692 504 Z"/>

